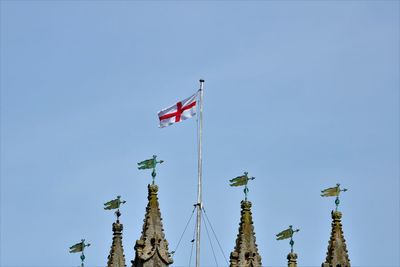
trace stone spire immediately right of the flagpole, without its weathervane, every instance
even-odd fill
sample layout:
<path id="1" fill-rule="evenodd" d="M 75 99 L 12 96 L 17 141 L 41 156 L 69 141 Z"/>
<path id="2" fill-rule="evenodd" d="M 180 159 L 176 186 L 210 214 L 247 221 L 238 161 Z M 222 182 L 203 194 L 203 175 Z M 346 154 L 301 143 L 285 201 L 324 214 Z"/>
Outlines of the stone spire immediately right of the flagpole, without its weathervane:
<path id="1" fill-rule="evenodd" d="M 251 202 L 242 200 L 241 207 L 239 233 L 230 256 L 230 267 L 261 267 L 261 256 L 258 254 L 251 215 Z"/>

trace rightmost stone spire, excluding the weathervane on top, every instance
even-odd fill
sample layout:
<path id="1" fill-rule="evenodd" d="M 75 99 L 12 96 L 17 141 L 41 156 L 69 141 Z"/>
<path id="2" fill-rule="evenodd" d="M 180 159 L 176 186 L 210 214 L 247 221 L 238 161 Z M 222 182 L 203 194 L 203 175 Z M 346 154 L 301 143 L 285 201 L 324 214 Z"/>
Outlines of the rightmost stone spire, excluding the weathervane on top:
<path id="1" fill-rule="evenodd" d="M 343 236 L 340 211 L 332 211 L 332 233 L 328 244 L 328 252 L 325 262 L 321 267 L 350 267 L 350 259 L 347 254 L 346 240 Z"/>

